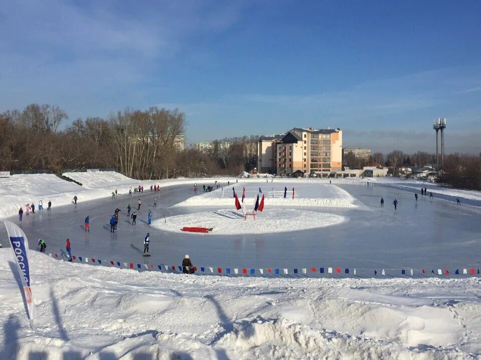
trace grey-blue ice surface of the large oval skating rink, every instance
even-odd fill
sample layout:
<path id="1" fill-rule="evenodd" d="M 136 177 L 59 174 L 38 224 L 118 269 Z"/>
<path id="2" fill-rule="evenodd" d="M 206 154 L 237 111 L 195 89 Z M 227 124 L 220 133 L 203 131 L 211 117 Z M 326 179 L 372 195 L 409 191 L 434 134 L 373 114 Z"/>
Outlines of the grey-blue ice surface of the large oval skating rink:
<path id="1" fill-rule="evenodd" d="M 201 189 L 202 184 L 198 185 Z M 244 185 L 250 188 L 264 186 L 259 182 L 241 180 L 236 184 L 239 196 L 242 194 L 239 189 Z M 271 184 L 265 186 L 272 187 Z M 275 186 L 283 188 L 284 184 L 275 181 Z M 68 237 L 74 255 L 142 264 L 177 265 L 188 253 L 193 264 L 198 266 L 340 266 L 369 269 L 479 267 L 479 207 L 458 206 L 453 201 L 429 199 L 428 196 L 419 196 L 416 202 L 413 192 L 385 186 L 336 186 L 351 194 L 353 204 L 357 207 L 304 206 L 302 209 L 337 214 L 350 221 L 294 232 L 192 235 L 150 227 L 147 224 L 149 209 L 153 212 L 153 220 L 165 216 L 167 221 L 173 215 L 225 209 L 225 206 L 216 208 L 199 205 L 171 207 L 194 196 L 193 186 L 185 184 L 163 187 L 157 193 L 144 190 L 140 195 L 142 206 L 135 226 L 131 225 L 130 218 L 126 216 L 126 207 L 130 203 L 133 209 L 136 208 L 139 197 L 133 194 L 129 198 L 126 194 L 120 194 L 117 199 L 103 198 L 85 202 L 80 197 L 76 206 L 70 204 L 56 207 L 54 204 L 51 212 L 37 210 L 36 215 L 24 214 L 21 227 L 34 249 L 37 249 L 38 239 L 42 238 L 47 242 L 47 252 L 65 252 L 65 239 Z M 232 196 L 231 186 L 224 189 L 224 192 Z M 380 207 L 381 196 L 385 199 L 384 208 Z M 254 195 L 248 194 L 248 197 L 254 198 Z M 159 202 L 156 208 L 152 207 L 154 198 Z M 394 198 L 399 202 L 396 211 L 392 205 Z M 229 201 L 232 202 L 233 209 L 233 199 Z M 252 199 L 250 201 L 253 202 Z M 111 233 L 108 222 L 116 207 L 122 213 L 118 230 Z M 269 201 L 266 201 L 266 208 L 269 208 Z M 89 233 L 84 231 L 87 215 L 91 217 Z M 19 223 L 17 216 L 9 219 Z M 142 256 L 143 238 L 147 232 L 151 234 L 150 258 Z M 6 236 L 5 229 L 0 228 L 0 238 L 6 239 Z M 5 241 L 2 242 L 5 246 Z"/>

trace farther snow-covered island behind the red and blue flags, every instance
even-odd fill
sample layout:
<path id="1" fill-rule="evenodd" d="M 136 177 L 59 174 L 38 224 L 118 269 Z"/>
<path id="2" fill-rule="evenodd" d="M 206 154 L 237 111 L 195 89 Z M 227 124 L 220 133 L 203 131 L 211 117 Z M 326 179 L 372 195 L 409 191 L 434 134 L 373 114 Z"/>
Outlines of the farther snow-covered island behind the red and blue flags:
<path id="1" fill-rule="evenodd" d="M 246 184 L 251 183 L 246 181 Z M 262 184 L 262 183 L 261 183 Z M 235 184 L 235 192 L 240 200 L 243 187 Z M 305 183 L 300 186 L 295 185 L 295 196 L 292 198 L 292 183 L 264 183 L 263 193 L 259 193 L 259 186 L 248 187 L 246 185 L 246 199 L 244 200 L 247 209 L 252 209 L 257 200 L 257 195 L 265 195 L 266 206 L 289 206 L 289 207 L 336 207 L 336 208 L 357 208 L 355 198 L 347 191 L 327 184 Z M 284 187 L 288 187 L 287 197 L 284 198 Z M 211 192 L 200 192 L 200 195 L 192 196 L 174 206 L 233 206 L 233 192 L 231 187 L 216 189 Z"/>

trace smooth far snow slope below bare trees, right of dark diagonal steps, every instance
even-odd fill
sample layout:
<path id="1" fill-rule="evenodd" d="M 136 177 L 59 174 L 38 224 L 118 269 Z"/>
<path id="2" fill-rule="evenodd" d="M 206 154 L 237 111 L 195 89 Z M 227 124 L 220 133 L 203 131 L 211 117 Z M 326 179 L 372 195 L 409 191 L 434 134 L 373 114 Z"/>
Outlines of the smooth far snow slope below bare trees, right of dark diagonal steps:
<path id="1" fill-rule="evenodd" d="M 139 186 L 142 181 L 131 179 L 115 171 L 72 172 L 62 174 L 77 181 L 86 189 L 115 189 L 125 186 Z"/>

